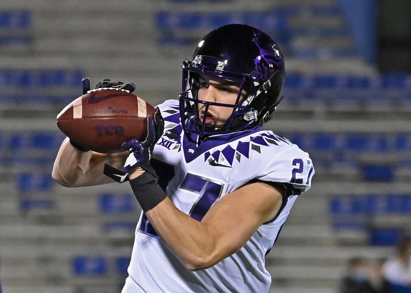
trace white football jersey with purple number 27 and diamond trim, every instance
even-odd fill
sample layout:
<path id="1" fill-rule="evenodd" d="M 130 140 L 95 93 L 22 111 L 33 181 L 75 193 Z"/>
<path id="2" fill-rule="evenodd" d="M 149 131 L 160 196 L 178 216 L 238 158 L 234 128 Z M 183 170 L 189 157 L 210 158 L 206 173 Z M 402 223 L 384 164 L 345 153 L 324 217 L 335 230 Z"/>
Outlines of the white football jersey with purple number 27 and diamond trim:
<path id="1" fill-rule="evenodd" d="M 178 101 L 158 107 L 165 129 L 152 164 L 160 186 L 179 210 L 201 221 L 215 202 L 252 180 L 284 184 L 287 199 L 277 216 L 261 225 L 240 250 L 197 271 L 185 268 L 142 213 L 122 292 L 267 292 L 271 276 L 265 255 L 298 195 L 310 188 L 314 168 L 308 154 L 260 129 L 212 135 L 198 144 L 197 135 L 182 129 Z"/>

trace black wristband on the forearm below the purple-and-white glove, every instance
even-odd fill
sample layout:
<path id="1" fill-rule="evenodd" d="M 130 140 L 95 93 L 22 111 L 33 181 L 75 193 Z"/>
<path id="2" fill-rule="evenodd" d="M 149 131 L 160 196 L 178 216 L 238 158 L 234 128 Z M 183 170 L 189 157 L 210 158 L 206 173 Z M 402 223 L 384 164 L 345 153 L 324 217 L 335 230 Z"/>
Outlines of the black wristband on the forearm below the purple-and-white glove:
<path id="1" fill-rule="evenodd" d="M 144 212 L 151 210 L 167 197 L 157 184 L 157 178 L 150 172 L 145 172 L 129 182 Z"/>

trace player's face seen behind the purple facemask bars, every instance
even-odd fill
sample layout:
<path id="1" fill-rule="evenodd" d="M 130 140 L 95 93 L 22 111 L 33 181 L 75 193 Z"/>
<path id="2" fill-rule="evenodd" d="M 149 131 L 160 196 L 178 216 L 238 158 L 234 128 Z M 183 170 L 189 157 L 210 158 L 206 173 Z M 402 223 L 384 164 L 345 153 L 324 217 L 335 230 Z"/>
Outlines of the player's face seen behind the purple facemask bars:
<path id="1" fill-rule="evenodd" d="M 229 82 L 227 80 L 210 77 L 207 75 L 200 75 L 200 87 L 198 89 L 198 100 L 214 103 L 224 103 L 234 105 L 238 91 L 240 89 L 239 83 Z M 241 98 L 245 95 L 243 90 Z M 198 103 L 199 118 L 202 121 L 206 105 Z M 206 124 L 208 125 L 223 125 L 227 122 L 230 115 L 233 113 L 233 108 L 223 106 L 209 106 L 206 116 Z"/>

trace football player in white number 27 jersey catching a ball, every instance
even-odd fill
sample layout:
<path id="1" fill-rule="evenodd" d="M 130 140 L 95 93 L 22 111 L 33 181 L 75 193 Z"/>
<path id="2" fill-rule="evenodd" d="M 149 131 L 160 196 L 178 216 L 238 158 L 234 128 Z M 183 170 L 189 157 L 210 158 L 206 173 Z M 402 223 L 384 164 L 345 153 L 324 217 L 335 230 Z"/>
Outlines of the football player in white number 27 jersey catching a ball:
<path id="1" fill-rule="evenodd" d="M 144 142 L 100 154 L 66 139 L 53 179 L 128 179 L 142 212 L 122 292 L 267 292 L 265 256 L 314 174 L 306 152 L 261 128 L 282 99 L 283 55 L 233 24 L 208 33 L 182 71 L 179 101 L 157 106 Z"/>

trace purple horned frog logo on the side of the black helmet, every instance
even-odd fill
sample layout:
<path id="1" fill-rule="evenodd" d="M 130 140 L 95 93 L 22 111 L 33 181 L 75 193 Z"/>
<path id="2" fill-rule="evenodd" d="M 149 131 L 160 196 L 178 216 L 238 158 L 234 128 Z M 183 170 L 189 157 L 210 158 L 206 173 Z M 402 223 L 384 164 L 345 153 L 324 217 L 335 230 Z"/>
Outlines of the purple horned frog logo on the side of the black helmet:
<path id="1" fill-rule="evenodd" d="M 275 54 L 274 52 L 279 50 L 274 46 L 274 52 L 261 48 L 259 37 L 261 36 L 261 32 L 257 31 L 254 32 L 254 37 L 252 42 L 257 46 L 260 50 L 259 56 L 254 59 L 254 66 L 255 69 L 250 73 L 251 77 L 255 77 L 255 79 L 259 83 L 263 83 L 267 81 L 271 75 L 274 74 L 274 68 L 270 66 L 271 64 L 277 64 L 279 60 L 281 60 L 281 55 Z"/>

